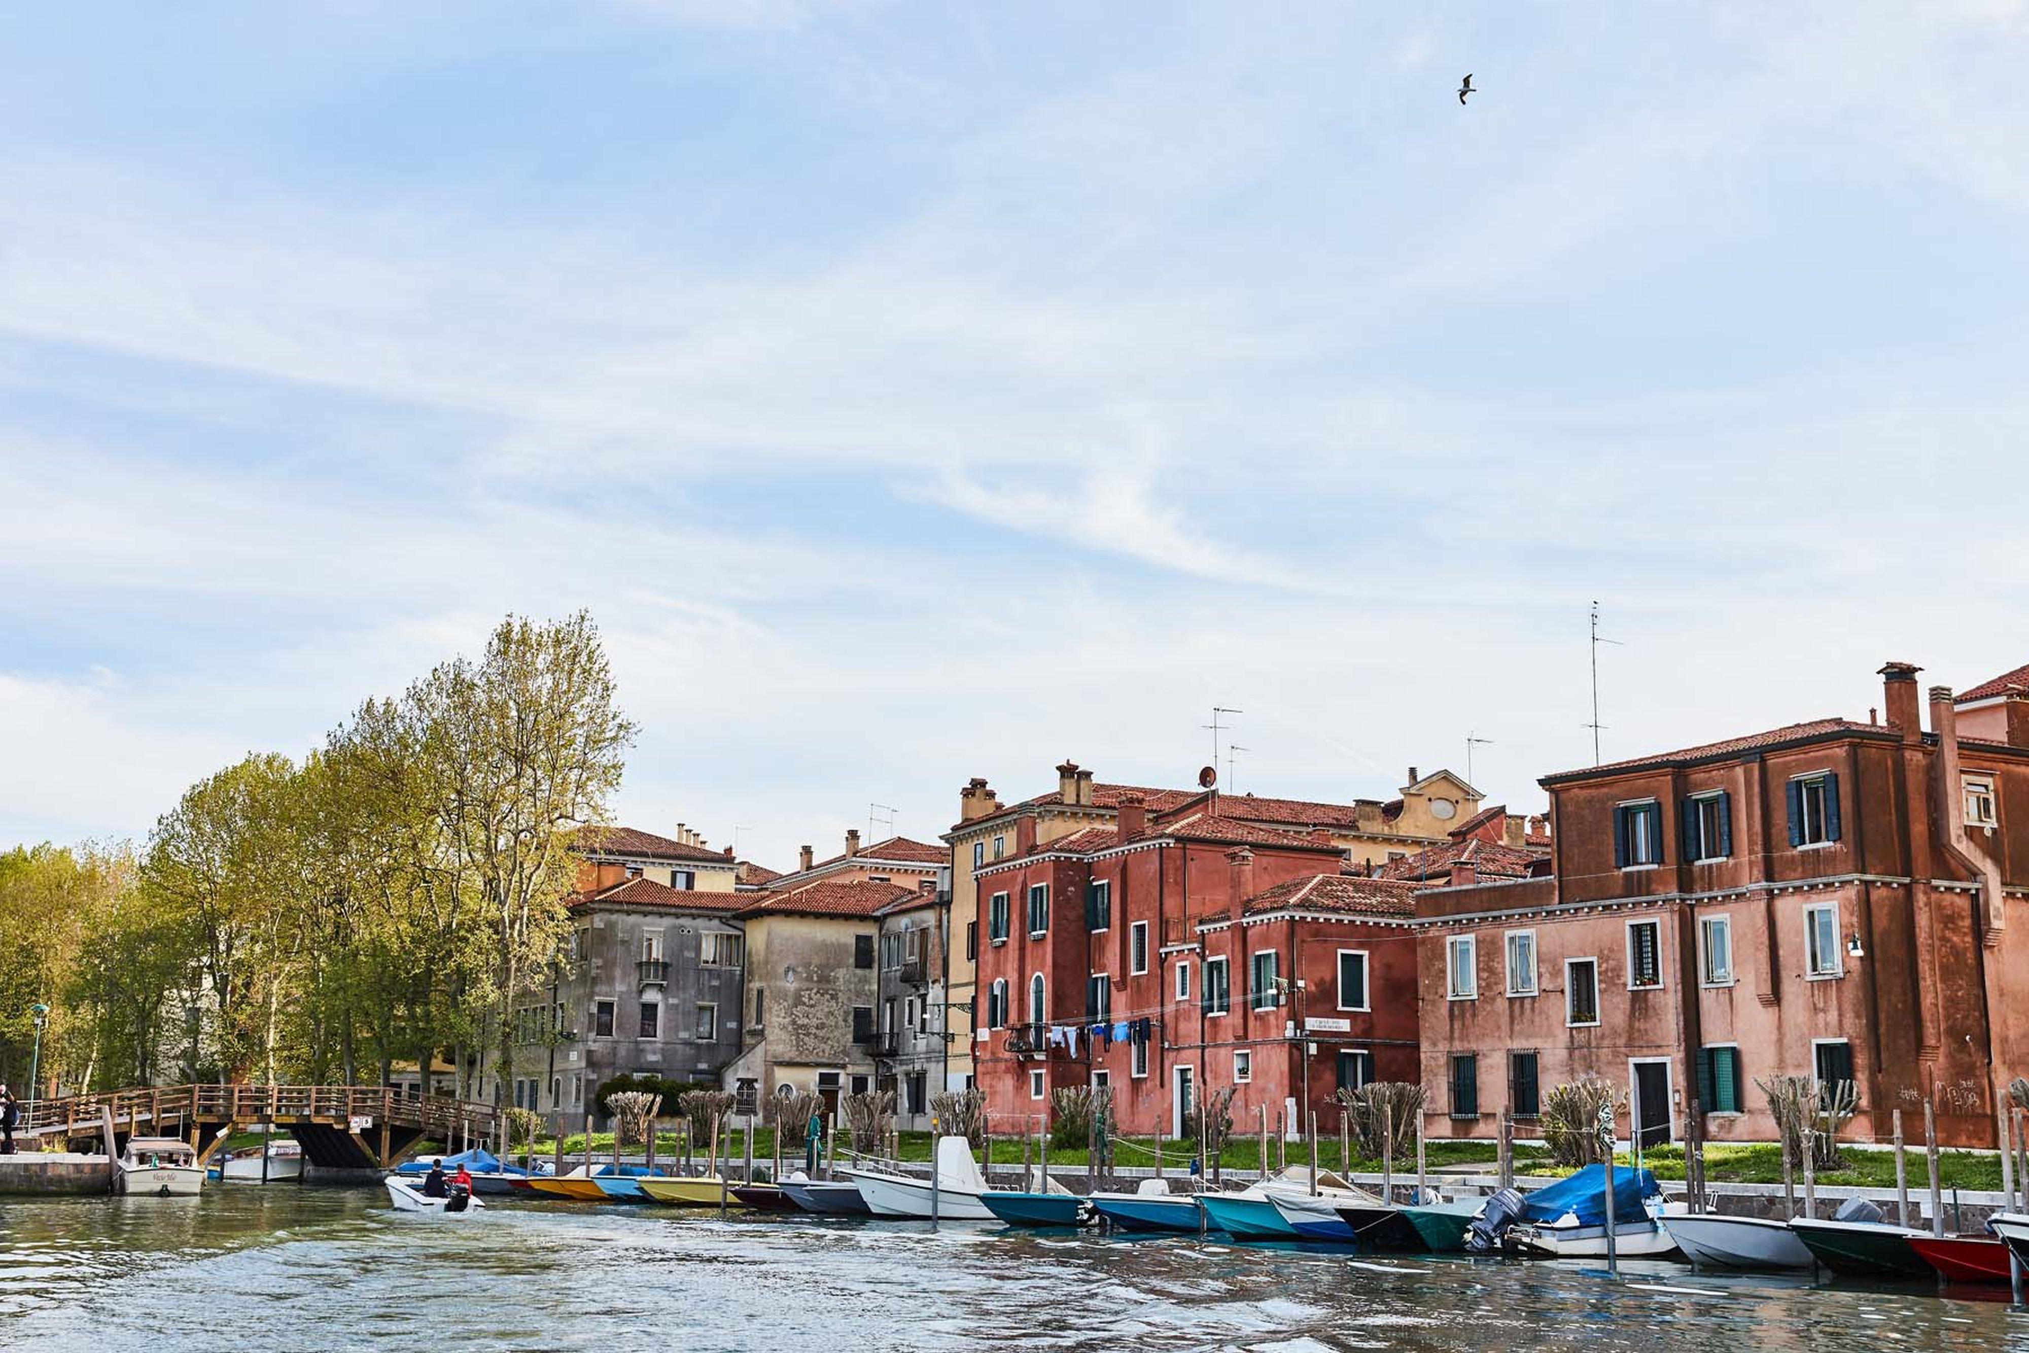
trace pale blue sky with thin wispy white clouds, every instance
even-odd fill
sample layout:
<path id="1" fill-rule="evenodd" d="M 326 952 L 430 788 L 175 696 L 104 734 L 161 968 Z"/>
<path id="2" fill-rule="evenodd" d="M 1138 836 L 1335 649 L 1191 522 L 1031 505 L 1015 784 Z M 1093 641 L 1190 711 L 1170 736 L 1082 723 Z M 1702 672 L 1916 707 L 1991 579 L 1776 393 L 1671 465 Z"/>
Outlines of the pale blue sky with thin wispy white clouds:
<path id="1" fill-rule="evenodd" d="M 16 6 L 0 846 L 507 613 L 597 617 L 617 820 L 775 868 L 1215 744 L 1540 809 L 1595 600 L 1607 759 L 1986 680 L 2023 69 L 2003 0 Z"/>

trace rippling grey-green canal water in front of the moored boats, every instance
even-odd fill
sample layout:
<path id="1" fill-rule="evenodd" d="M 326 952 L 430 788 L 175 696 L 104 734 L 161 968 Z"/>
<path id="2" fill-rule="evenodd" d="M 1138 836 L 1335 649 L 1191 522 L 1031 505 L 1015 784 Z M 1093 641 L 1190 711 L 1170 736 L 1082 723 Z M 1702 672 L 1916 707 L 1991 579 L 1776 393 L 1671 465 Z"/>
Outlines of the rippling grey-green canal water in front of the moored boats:
<path id="1" fill-rule="evenodd" d="M 369 1189 L 0 1199 L 0 1349 L 2023 1349 L 2007 1292 Z"/>

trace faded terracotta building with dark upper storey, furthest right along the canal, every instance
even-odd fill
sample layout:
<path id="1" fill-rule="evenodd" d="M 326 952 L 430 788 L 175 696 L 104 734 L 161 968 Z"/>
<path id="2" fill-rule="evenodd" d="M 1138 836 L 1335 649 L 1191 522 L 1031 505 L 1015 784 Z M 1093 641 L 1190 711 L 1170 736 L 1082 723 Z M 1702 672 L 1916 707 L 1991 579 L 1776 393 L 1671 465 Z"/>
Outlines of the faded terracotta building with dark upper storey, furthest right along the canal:
<path id="1" fill-rule="evenodd" d="M 1581 1075 L 1646 1140 L 1771 1140 L 1757 1077 L 1850 1079 L 1852 1134 L 1995 1144 L 2029 1073 L 2029 669 L 1954 702 L 1881 669 L 1818 718 L 1542 779 L 1550 866 L 1416 895 L 1426 1132 L 1493 1136 Z M 1972 736 L 1968 728 L 1978 728 Z M 2011 915 L 2013 913 L 2013 915 Z M 2013 1002 L 2013 1004 L 2011 1004 Z M 1907 1124 L 1905 1124 L 1907 1126 Z M 1631 1132 L 1623 1116 L 1623 1132 Z"/>

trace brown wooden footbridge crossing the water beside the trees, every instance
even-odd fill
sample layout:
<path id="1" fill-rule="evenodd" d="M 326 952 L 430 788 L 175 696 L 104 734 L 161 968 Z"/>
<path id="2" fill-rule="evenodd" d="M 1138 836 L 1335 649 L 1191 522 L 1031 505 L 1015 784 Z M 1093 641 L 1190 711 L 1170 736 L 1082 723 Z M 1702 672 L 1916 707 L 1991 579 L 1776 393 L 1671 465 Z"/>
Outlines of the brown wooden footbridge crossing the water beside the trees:
<path id="1" fill-rule="evenodd" d="M 499 1110 L 448 1095 L 410 1095 L 386 1085 L 160 1085 L 39 1099 L 22 1136 L 97 1148 L 108 1120 L 128 1136 L 179 1136 L 209 1160 L 235 1132 L 274 1124 L 302 1142 L 310 1164 L 373 1170 L 400 1164 L 422 1142 L 450 1148 L 501 1140 Z"/>

